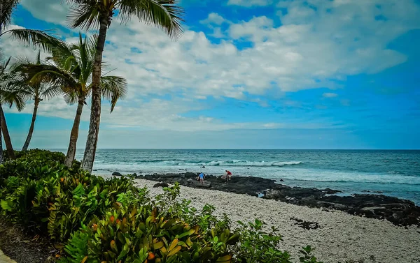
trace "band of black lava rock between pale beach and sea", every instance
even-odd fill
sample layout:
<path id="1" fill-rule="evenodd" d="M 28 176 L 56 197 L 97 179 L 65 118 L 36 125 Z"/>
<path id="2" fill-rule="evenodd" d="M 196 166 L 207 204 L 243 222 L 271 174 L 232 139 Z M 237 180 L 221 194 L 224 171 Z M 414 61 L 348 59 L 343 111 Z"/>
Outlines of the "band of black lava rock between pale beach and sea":
<path id="1" fill-rule="evenodd" d="M 118 172 L 113 173 L 119 176 Z M 137 176 L 137 174 L 134 174 Z M 156 186 L 165 186 L 165 183 L 179 182 L 181 186 L 192 188 L 206 188 L 220 190 L 228 193 L 247 194 L 264 199 L 279 200 L 300 206 L 335 209 L 355 216 L 365 216 L 388 220 L 394 225 L 420 226 L 420 207 L 409 200 L 402 200 L 386 195 L 351 195 L 339 196 L 338 190 L 290 187 L 276 183 L 271 179 L 259 177 L 234 176 L 225 183 L 220 176 L 207 175 L 204 185 L 200 184 L 197 174 L 186 172 L 182 174 L 153 174 L 137 176 L 139 179 L 162 182 Z"/>

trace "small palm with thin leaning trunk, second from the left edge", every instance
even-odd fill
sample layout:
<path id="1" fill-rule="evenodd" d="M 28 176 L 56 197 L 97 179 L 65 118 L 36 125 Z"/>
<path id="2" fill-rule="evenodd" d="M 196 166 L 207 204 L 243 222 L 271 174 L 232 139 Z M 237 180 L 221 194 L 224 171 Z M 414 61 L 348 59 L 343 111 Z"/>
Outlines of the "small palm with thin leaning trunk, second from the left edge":
<path id="1" fill-rule="evenodd" d="M 41 66 L 43 61 L 41 61 L 41 52 L 38 52 L 36 61 L 33 63 L 31 61 L 21 60 L 19 62 L 21 65 L 34 65 Z M 13 70 L 13 74 L 17 79 L 10 84 L 13 86 L 13 91 L 18 93 L 19 96 L 27 101 L 34 100 L 34 112 L 32 113 L 31 126 L 29 126 L 29 132 L 25 144 L 22 146 L 22 151 L 27 151 L 29 143 L 31 142 L 32 134 L 34 133 L 34 126 L 36 121 L 36 113 L 38 112 L 38 106 L 41 101 L 44 99 L 49 100 L 50 98 L 59 96 L 62 93 L 62 89 L 57 86 L 49 85 L 48 83 L 43 82 L 28 82 L 27 74 L 20 71 L 20 65 L 16 66 Z"/>

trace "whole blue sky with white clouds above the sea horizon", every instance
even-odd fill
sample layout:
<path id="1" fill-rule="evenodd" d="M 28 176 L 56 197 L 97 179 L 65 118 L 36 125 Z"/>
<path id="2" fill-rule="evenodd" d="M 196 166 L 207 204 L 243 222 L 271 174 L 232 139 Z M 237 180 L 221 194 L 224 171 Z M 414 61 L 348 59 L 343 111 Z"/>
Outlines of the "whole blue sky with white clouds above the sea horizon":
<path id="1" fill-rule="evenodd" d="M 181 0 L 172 40 L 135 17 L 113 20 L 104 61 L 127 78 L 99 148 L 420 149 L 419 0 Z M 69 6 L 21 0 L 10 28 L 73 42 Z M 85 32 L 90 35 L 94 31 Z M 3 36 L 12 57 L 36 50 Z M 84 107 L 78 147 L 90 117 Z M 33 103 L 5 109 L 19 149 Z M 31 148 L 66 148 L 76 114 L 43 100 Z"/>

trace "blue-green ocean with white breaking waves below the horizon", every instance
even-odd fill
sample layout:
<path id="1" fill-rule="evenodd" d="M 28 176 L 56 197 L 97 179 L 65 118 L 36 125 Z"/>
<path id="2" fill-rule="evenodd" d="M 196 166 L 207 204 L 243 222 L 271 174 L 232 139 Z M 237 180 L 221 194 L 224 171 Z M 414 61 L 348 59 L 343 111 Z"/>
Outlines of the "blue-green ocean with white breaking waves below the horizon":
<path id="1" fill-rule="evenodd" d="M 82 156 L 78 150 L 76 158 Z M 102 175 L 222 175 L 225 170 L 233 176 L 283 179 L 288 186 L 342 190 L 343 195 L 381 193 L 420 205 L 420 151 L 98 149 L 94 162 L 94 173 Z"/>

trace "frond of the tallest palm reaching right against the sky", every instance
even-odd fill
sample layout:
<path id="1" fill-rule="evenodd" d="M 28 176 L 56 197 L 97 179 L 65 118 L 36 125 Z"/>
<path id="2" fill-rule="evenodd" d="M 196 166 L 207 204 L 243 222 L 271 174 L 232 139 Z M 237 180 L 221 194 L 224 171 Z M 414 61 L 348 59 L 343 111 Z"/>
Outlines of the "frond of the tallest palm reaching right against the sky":
<path id="1" fill-rule="evenodd" d="M 183 32 L 184 12 L 176 0 L 120 0 L 117 7 L 123 22 L 135 15 L 141 22 L 160 27 L 174 39 Z"/>

